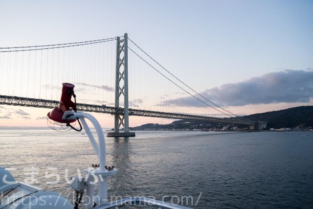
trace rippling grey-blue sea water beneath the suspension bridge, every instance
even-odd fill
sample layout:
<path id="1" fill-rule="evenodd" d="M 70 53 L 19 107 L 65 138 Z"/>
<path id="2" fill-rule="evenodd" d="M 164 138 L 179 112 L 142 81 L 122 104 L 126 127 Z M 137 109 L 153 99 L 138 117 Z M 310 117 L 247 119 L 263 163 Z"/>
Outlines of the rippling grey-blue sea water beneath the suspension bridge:
<path id="1" fill-rule="evenodd" d="M 0 130 L 0 166 L 72 201 L 66 180 L 98 163 L 82 133 Z M 106 138 L 107 165 L 118 169 L 109 201 L 153 196 L 187 206 L 188 197 L 197 209 L 313 208 L 313 132 L 136 135 Z"/>

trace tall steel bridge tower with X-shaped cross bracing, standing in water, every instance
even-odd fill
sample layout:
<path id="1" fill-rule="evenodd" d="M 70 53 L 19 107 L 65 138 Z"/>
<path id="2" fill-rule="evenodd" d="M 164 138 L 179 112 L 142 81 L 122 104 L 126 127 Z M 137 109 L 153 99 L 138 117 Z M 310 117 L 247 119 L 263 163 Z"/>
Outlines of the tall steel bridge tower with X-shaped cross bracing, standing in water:
<path id="1" fill-rule="evenodd" d="M 115 114 L 114 132 L 109 132 L 108 137 L 134 137 L 135 133 L 129 131 L 129 108 L 128 108 L 128 37 L 116 38 L 116 70 L 115 70 Z M 119 99 L 124 97 L 124 111 L 119 107 Z M 123 115 L 121 115 L 123 113 Z M 119 128 L 123 126 L 124 132 Z"/>

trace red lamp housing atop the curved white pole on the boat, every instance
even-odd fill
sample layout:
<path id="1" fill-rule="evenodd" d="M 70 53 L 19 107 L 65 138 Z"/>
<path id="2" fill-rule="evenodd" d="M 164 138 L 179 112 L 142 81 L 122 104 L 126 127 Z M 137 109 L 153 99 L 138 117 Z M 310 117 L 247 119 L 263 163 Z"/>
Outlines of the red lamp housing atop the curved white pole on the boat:
<path id="1" fill-rule="evenodd" d="M 63 83 L 62 85 L 63 85 L 62 95 L 61 95 L 59 106 L 54 108 L 51 112 L 49 112 L 47 116 L 51 120 L 59 122 L 59 123 L 72 123 L 72 122 L 75 122 L 76 119 L 64 120 L 62 119 L 62 117 L 66 111 L 69 111 L 69 110 L 76 111 L 76 105 L 71 100 L 72 95 L 75 97 L 75 94 L 74 94 L 75 86 L 70 83 Z"/>

